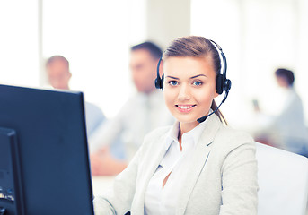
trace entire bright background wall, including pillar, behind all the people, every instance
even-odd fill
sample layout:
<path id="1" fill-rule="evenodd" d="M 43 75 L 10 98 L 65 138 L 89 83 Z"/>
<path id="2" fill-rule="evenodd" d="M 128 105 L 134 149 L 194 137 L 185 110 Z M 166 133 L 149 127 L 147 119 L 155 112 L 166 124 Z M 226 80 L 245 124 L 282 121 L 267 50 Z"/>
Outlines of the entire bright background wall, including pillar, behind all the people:
<path id="1" fill-rule="evenodd" d="M 134 92 L 129 47 L 152 40 L 166 47 L 187 35 L 214 39 L 233 82 L 222 107 L 231 125 L 244 126 L 258 99 L 276 112 L 274 71 L 295 72 L 308 124 L 308 1 L 306 0 L 13 0 L 0 2 L 0 82 L 47 87 L 44 64 L 70 62 L 72 90 L 108 117 Z"/>

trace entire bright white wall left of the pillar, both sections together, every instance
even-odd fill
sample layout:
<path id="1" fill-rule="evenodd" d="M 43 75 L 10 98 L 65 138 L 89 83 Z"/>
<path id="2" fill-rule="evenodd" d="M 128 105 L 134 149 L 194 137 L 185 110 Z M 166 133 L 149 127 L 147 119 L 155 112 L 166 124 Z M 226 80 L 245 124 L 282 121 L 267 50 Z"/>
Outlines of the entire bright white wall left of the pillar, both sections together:
<path id="1" fill-rule="evenodd" d="M 47 87 L 44 64 L 70 62 L 72 90 L 114 116 L 135 88 L 129 47 L 146 38 L 143 0 L 0 2 L 0 82 Z"/>

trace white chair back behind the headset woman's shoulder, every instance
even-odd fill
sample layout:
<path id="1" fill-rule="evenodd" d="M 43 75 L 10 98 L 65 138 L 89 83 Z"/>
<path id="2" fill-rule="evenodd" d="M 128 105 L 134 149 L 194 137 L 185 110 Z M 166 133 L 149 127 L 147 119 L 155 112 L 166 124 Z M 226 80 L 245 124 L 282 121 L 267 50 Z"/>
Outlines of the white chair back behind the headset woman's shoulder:
<path id="1" fill-rule="evenodd" d="M 259 215 L 304 215 L 308 196 L 308 159 L 256 142 Z"/>

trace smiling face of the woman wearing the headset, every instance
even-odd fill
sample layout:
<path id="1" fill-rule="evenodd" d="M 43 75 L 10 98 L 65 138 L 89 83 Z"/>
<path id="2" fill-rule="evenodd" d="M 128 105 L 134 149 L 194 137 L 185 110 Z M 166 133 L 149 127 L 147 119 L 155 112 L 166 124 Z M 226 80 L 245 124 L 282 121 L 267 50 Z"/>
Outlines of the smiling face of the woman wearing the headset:
<path id="1" fill-rule="evenodd" d="M 172 116 L 190 129 L 206 116 L 216 93 L 216 73 L 211 56 L 170 56 L 163 62 L 163 95 Z"/>

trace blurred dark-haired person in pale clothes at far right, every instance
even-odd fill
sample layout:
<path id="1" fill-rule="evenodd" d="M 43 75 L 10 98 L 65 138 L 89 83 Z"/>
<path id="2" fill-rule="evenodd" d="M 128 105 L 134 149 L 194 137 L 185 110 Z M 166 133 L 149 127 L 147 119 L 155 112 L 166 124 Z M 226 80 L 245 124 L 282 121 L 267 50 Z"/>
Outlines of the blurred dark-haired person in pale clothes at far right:
<path id="1" fill-rule="evenodd" d="M 275 77 L 284 96 L 282 108 L 277 116 L 267 116 L 255 106 L 257 117 L 267 118 L 264 120 L 267 123 L 255 133 L 256 141 L 308 156 L 308 129 L 304 125 L 302 100 L 294 88 L 295 75 L 290 70 L 279 68 Z"/>

